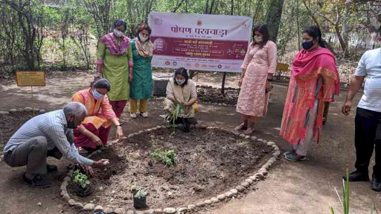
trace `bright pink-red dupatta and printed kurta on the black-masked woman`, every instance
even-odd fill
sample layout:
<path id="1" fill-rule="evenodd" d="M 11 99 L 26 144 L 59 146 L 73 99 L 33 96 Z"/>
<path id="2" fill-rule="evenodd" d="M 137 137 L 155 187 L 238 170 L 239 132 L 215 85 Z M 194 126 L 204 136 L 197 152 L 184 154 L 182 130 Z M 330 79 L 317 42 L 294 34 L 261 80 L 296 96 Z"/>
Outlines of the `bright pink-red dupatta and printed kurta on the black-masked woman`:
<path id="1" fill-rule="evenodd" d="M 325 48 L 311 52 L 301 50 L 295 57 L 280 136 L 292 144 L 303 143 L 308 126 L 313 123 L 313 139 L 319 143 L 326 102 L 339 93 L 339 76 L 335 57 Z M 309 121 L 317 100 L 316 119 Z"/>

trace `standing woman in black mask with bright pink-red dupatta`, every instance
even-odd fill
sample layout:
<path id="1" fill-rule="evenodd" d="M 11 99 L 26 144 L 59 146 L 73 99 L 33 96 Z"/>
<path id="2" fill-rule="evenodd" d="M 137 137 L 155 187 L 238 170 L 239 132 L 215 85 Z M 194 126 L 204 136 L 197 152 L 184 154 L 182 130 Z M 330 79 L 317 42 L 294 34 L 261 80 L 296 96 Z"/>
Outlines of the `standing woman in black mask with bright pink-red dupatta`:
<path id="1" fill-rule="evenodd" d="M 326 102 L 339 94 L 336 59 L 325 48 L 318 27 L 303 31 L 303 49 L 292 65 L 292 75 L 285 101 L 280 136 L 293 144 L 284 153 L 289 161 L 303 161 L 313 141 L 319 143 Z"/>

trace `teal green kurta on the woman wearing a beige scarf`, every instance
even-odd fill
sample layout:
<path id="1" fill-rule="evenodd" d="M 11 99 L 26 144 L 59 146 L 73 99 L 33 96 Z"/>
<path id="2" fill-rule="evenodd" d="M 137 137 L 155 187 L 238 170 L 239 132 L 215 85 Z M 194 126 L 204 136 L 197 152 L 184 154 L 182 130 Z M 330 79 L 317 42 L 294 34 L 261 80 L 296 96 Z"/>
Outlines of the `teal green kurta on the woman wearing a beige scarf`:
<path id="1" fill-rule="evenodd" d="M 130 83 L 130 97 L 134 100 L 151 98 L 152 94 L 152 57 L 140 56 L 136 49 L 136 41 L 131 41 L 134 58 L 133 81 Z"/>

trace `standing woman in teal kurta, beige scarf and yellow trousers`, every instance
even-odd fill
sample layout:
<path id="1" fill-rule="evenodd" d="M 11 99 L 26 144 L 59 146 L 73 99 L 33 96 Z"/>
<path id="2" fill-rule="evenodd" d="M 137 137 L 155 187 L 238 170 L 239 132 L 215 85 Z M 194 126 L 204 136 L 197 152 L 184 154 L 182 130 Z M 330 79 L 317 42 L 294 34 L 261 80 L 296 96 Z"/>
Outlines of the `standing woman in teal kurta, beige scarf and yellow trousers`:
<path id="1" fill-rule="evenodd" d="M 142 117 L 148 117 L 147 99 L 152 94 L 152 67 L 153 43 L 149 41 L 151 28 L 147 24 L 138 27 L 137 38 L 131 41 L 134 58 L 133 80 L 130 89 L 131 118 L 136 118 L 139 101 L 139 112 Z"/>

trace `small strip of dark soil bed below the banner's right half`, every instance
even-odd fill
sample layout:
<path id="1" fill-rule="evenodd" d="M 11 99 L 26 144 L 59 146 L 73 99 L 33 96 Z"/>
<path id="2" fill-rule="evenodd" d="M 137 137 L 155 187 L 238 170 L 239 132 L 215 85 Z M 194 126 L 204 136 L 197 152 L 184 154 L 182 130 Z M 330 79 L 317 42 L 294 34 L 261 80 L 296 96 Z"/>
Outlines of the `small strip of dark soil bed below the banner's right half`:
<path id="1" fill-rule="evenodd" d="M 237 104 L 239 96 L 239 89 L 225 88 L 224 94 L 221 94 L 220 88 L 213 88 L 211 86 L 197 87 L 197 98 L 201 102 L 212 103 L 226 103 L 228 105 Z"/>

